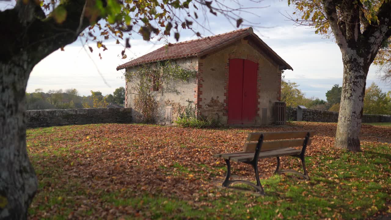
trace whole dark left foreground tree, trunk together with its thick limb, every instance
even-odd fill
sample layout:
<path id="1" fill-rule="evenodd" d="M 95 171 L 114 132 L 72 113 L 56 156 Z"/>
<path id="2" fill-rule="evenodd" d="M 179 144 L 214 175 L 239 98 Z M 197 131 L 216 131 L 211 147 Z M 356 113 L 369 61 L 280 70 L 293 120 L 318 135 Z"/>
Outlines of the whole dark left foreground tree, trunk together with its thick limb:
<path id="1" fill-rule="evenodd" d="M 102 1 L 106 7 L 106 1 Z M 94 1 L 61 2 L 66 20 L 57 23 L 34 1 L 17 1 L 0 12 L 0 219 L 26 219 L 38 181 L 26 150 L 25 91 L 32 68 L 74 42 L 94 17 Z M 91 8 L 92 7 L 92 8 Z M 88 16 L 87 16 L 88 15 Z"/>

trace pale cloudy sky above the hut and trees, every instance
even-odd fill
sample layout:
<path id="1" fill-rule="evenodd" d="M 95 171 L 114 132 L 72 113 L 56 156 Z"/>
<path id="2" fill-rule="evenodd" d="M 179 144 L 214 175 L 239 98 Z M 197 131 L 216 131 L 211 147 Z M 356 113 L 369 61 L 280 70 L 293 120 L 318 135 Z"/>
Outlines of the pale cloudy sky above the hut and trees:
<path id="1" fill-rule="evenodd" d="M 285 79 L 298 83 L 307 97 L 326 99 L 327 90 L 334 84 L 342 85 L 343 64 L 339 47 L 332 39 L 323 39 L 314 34 L 312 29 L 296 27 L 293 22 L 287 21 L 282 14 L 291 14 L 293 8 L 288 7 L 285 0 L 265 0 L 258 4 L 248 2 L 248 5 L 244 6 L 268 5 L 270 6 L 264 9 L 253 9 L 252 12 L 259 17 L 249 14 L 242 14 L 242 16 L 267 27 L 255 28 L 254 32 L 293 67 L 294 71 L 285 71 Z M 5 7 L 7 5 L 0 1 L 0 9 Z M 8 7 L 10 6 L 8 5 Z M 200 29 L 204 36 L 236 29 L 221 16 L 210 15 L 208 18 L 207 28 L 210 32 Z M 188 31 L 181 31 L 179 41 L 196 38 L 197 36 Z M 172 43 L 176 42 L 170 37 L 168 40 Z M 158 49 L 164 42 L 143 41 L 140 36 L 133 34 L 130 43 L 131 48 L 127 50 L 128 58 L 123 60 L 120 53 L 124 47 L 116 45 L 114 41 L 105 42 L 108 50 L 104 52 L 99 51 L 96 43 L 91 42 L 91 47 L 94 49 L 91 54 L 87 45 L 84 48 L 81 46 L 82 43 L 79 39 L 75 43 L 67 45 L 65 51 L 53 52 L 34 67 L 28 81 L 27 92 L 33 92 L 36 88 L 43 88 L 44 92 L 50 89 L 76 88 L 80 95 L 85 96 L 90 95 L 90 90 L 99 90 L 104 95 L 113 93 L 115 88 L 125 85 L 125 81 L 121 78 L 123 70 L 117 71 L 116 67 L 129 61 L 130 58 L 137 58 Z M 102 60 L 99 59 L 99 52 L 102 55 Z M 382 88 L 383 92 L 391 89 L 390 86 L 378 79 L 376 66 L 371 66 L 369 69 L 367 87 L 373 81 Z"/>

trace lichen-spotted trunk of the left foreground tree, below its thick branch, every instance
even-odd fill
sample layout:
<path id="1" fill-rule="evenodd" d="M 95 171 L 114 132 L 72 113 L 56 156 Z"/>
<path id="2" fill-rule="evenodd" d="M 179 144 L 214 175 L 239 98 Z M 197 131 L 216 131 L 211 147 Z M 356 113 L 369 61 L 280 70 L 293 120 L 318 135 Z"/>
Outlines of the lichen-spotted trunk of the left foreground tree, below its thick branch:
<path id="1" fill-rule="evenodd" d="M 38 181 L 26 150 L 27 56 L 0 62 L 0 219 L 27 219 Z"/>

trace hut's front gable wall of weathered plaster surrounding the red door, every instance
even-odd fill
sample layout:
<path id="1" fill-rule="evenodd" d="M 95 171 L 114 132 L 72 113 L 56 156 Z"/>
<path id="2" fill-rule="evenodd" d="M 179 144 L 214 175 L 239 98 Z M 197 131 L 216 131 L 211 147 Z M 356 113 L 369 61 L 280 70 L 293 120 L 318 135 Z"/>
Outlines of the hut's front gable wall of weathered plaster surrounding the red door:
<path id="1" fill-rule="evenodd" d="M 199 87 L 201 93 L 198 92 L 198 105 L 201 106 L 199 109 L 202 115 L 219 117 L 223 124 L 228 123 L 229 60 L 245 59 L 258 63 L 256 124 L 261 124 L 262 121 L 261 108 L 267 108 L 267 119 L 264 121 L 267 124 L 274 123 L 274 105 L 279 101 L 281 93 L 281 70 L 260 51 L 262 52 L 255 43 L 242 39 L 199 60 L 199 63 L 202 63 L 202 85 Z M 204 108 L 211 102 L 221 105 Z"/>

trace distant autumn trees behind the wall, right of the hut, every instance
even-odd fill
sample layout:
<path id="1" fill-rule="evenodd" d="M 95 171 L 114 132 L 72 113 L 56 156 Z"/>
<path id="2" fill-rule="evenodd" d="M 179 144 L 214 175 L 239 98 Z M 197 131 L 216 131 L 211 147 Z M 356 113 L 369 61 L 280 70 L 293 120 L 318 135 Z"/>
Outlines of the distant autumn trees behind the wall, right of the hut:
<path id="1" fill-rule="evenodd" d="M 335 84 L 326 92 L 326 101 L 319 98 L 307 98 L 297 83 L 283 80 L 281 83 L 281 101 L 287 106 L 304 105 L 307 108 L 339 112 L 342 87 Z M 383 92 L 376 83 L 366 88 L 364 96 L 364 114 L 391 115 L 391 91 Z"/>

